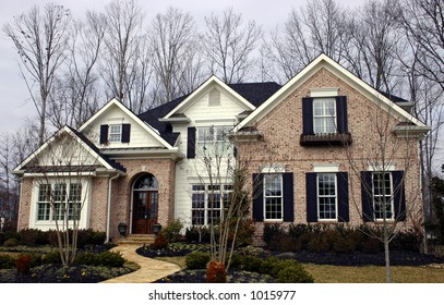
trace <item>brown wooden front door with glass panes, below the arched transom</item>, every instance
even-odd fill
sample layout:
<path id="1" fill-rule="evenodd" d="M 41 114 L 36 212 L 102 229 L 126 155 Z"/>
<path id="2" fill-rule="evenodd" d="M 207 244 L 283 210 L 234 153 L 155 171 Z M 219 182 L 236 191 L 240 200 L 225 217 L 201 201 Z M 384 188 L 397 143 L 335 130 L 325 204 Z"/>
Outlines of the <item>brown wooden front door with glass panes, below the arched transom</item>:
<path id="1" fill-rule="evenodd" d="M 152 234 L 157 223 L 157 191 L 134 191 L 133 234 Z"/>

